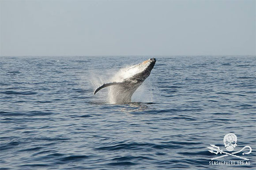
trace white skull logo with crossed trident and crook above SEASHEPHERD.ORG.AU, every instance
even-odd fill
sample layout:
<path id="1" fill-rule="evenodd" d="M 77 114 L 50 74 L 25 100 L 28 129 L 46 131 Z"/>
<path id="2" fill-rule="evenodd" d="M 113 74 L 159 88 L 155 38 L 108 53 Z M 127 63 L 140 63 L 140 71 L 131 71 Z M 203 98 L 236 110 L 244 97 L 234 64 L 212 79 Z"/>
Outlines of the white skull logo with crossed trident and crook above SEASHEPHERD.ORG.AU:
<path id="1" fill-rule="evenodd" d="M 246 148 L 249 148 L 250 151 L 244 152 L 243 155 L 250 154 L 252 152 L 252 148 L 250 146 L 245 146 L 244 148 L 242 148 L 239 151 L 232 152 L 237 147 L 237 136 L 235 134 L 233 134 L 233 133 L 226 134 L 223 139 L 223 144 L 226 147 L 226 150 L 228 152 L 223 151 L 222 149 L 220 149 L 219 146 L 216 146 L 214 144 L 210 144 L 211 147 L 207 147 L 210 149 L 210 150 L 208 150 L 209 152 L 214 153 L 216 155 L 220 154 L 220 156 L 214 157 L 211 160 L 220 159 L 225 156 L 233 156 L 236 158 L 240 158 L 243 161 L 238 161 L 238 162 L 235 162 L 235 161 L 217 161 L 217 162 L 211 161 L 211 162 L 209 162 L 210 165 L 250 165 L 250 162 L 249 163 L 247 162 L 249 159 L 236 155 L 237 153 L 242 152 Z M 244 161 L 246 161 L 246 162 L 244 162 Z"/>

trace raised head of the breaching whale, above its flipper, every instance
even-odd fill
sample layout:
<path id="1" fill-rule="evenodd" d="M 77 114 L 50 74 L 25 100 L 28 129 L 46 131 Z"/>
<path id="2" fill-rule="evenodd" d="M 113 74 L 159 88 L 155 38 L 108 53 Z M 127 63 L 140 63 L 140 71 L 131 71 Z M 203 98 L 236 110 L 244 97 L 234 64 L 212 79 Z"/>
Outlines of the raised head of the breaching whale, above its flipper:
<path id="1" fill-rule="evenodd" d="M 129 83 L 142 83 L 151 73 L 156 62 L 155 58 L 147 59 L 125 70 L 123 81 Z"/>

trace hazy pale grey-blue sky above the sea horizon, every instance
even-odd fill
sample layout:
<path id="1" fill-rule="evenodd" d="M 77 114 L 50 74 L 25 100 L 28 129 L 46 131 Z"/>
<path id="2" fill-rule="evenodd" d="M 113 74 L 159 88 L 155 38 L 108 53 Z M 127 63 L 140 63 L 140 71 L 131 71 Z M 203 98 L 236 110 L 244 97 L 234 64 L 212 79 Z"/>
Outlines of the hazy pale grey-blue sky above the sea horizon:
<path id="1" fill-rule="evenodd" d="M 256 0 L 0 0 L 0 55 L 256 55 Z"/>

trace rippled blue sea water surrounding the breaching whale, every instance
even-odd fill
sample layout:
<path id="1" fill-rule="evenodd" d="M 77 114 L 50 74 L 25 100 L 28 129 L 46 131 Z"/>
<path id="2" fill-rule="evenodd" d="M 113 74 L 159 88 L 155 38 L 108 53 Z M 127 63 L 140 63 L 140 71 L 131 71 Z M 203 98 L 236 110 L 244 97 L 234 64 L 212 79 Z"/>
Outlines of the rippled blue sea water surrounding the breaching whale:
<path id="1" fill-rule="evenodd" d="M 94 89 L 155 56 L 1 57 L 0 168 L 254 169 L 255 56 L 157 56 L 132 103 Z M 209 165 L 237 135 L 250 165 Z M 227 152 L 227 151 L 226 151 Z M 245 160 L 227 156 L 215 161 Z"/>

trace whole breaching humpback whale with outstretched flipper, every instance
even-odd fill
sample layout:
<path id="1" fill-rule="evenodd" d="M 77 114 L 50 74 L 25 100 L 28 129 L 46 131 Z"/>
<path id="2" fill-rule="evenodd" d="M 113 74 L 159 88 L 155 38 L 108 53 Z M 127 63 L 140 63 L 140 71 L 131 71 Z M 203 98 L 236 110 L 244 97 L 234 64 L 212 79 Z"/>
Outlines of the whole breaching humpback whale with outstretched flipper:
<path id="1" fill-rule="evenodd" d="M 105 87 L 110 86 L 110 103 L 131 102 L 132 94 L 138 89 L 143 81 L 149 76 L 156 62 L 155 58 L 148 59 L 142 63 L 129 68 L 121 69 L 114 77 L 112 82 L 104 83 L 94 90 L 94 95 Z"/>

